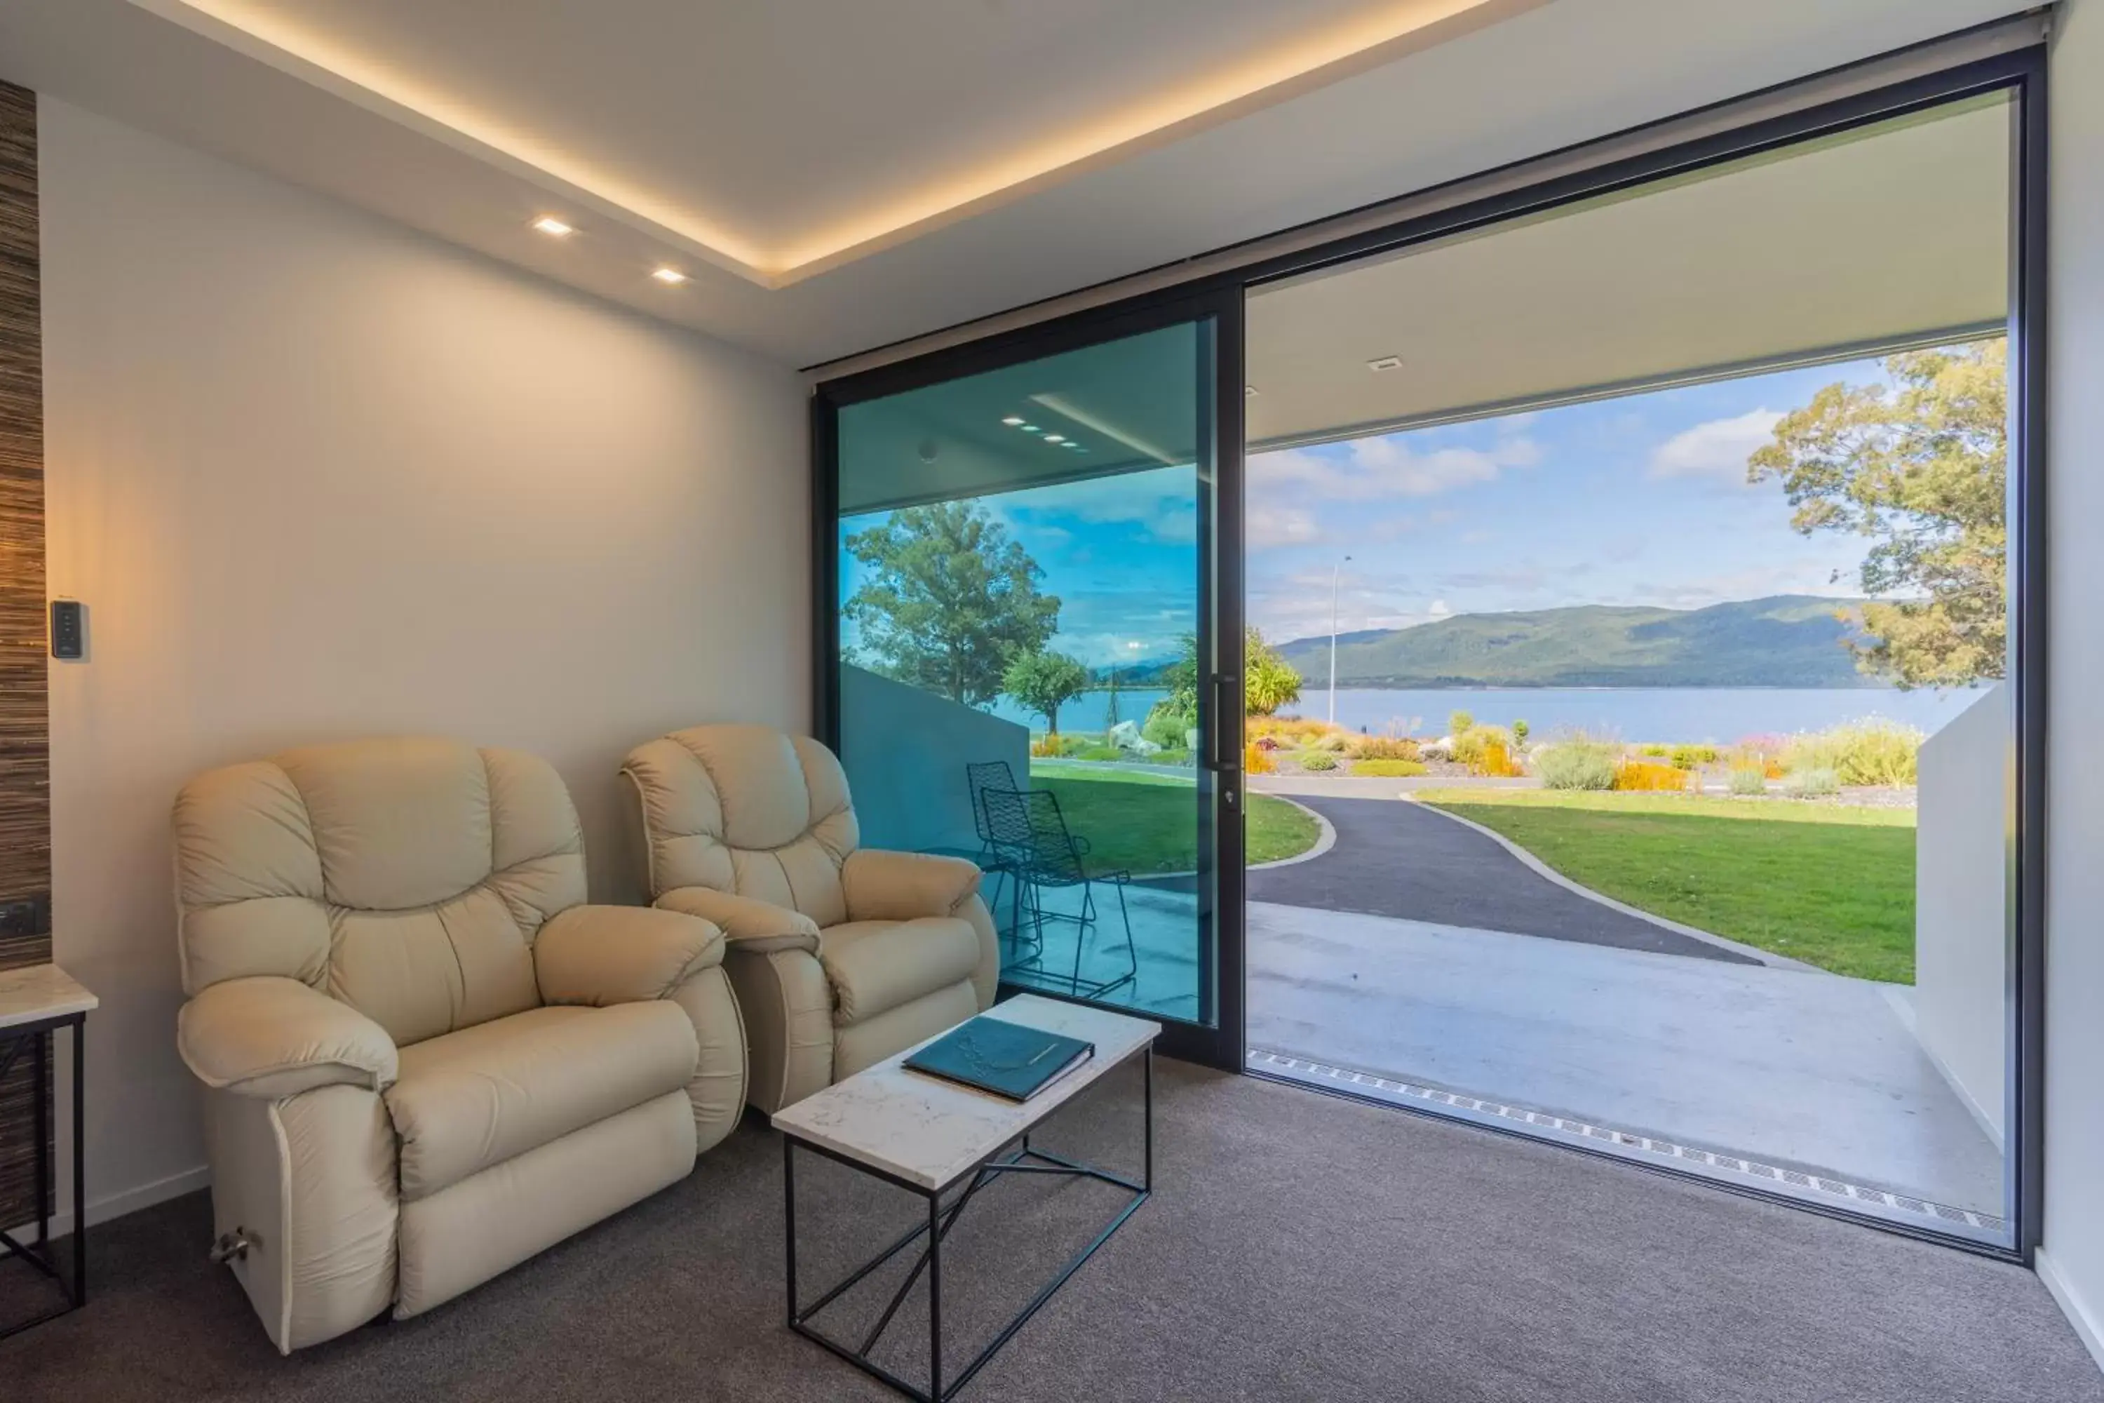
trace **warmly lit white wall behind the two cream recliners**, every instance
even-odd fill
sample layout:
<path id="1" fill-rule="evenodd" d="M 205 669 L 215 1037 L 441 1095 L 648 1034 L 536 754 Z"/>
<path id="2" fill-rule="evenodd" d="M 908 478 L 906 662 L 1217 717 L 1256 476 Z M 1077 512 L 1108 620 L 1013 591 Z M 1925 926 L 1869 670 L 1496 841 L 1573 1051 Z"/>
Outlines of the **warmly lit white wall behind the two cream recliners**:
<path id="1" fill-rule="evenodd" d="M 93 1216 L 200 1182 L 168 804 L 278 747 L 537 751 L 629 898 L 614 770 L 808 721 L 797 377 L 42 103 L 57 957 L 101 997 Z M 524 212 L 522 212 L 524 219 Z M 680 292 L 669 292 L 677 297 Z"/>

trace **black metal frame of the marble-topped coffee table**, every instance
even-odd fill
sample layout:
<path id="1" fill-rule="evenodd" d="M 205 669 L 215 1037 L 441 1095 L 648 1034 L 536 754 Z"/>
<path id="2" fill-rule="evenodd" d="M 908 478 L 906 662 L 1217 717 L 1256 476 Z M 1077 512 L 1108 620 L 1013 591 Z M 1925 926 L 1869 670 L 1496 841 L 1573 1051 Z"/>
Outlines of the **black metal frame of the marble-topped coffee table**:
<path id="1" fill-rule="evenodd" d="M 1102 1247 L 1102 1243 L 1111 1241 L 1111 1235 L 1117 1233 L 1117 1228 L 1124 1226 L 1126 1218 L 1130 1218 L 1134 1214 L 1134 1209 L 1138 1209 L 1140 1203 L 1145 1203 L 1149 1199 L 1149 1195 L 1153 1193 L 1153 1180 L 1155 1180 L 1155 1048 L 1153 1048 L 1153 1043 L 1147 1043 L 1147 1048 L 1142 1048 L 1138 1056 L 1142 1060 L 1145 1079 L 1147 1079 L 1147 1090 L 1145 1090 L 1145 1132 L 1142 1132 L 1142 1138 L 1145 1138 L 1145 1161 L 1142 1161 L 1142 1170 L 1140 1170 L 1140 1180 L 1138 1182 L 1132 1182 L 1130 1178 L 1126 1178 L 1121 1174 L 1111 1174 L 1109 1170 L 1098 1170 L 1094 1165 L 1075 1163 L 1073 1159 L 1065 1159 L 1065 1157 L 1052 1155 L 1048 1151 L 1031 1148 L 1031 1134 L 1033 1134 L 1031 1130 L 1023 1132 L 1014 1140 L 1008 1140 L 1006 1144 L 1002 1144 L 999 1148 L 995 1148 L 991 1155 L 987 1155 L 985 1159 L 980 1159 L 972 1170 L 968 1170 L 966 1174 L 959 1174 L 957 1178 L 949 1180 L 947 1184 L 943 1184 L 938 1188 L 926 1188 L 926 1186 L 915 1184 L 911 1180 L 905 1180 L 905 1178 L 901 1178 L 896 1174 L 888 1174 L 884 1170 L 875 1170 L 871 1165 L 865 1165 L 863 1161 L 850 1159 L 848 1155 L 831 1151 L 831 1148 L 827 1148 L 823 1144 L 812 1144 L 808 1140 L 797 1140 L 791 1134 L 783 1134 L 783 1231 L 785 1231 L 785 1239 L 787 1239 L 787 1264 L 789 1264 L 789 1317 L 787 1317 L 789 1319 L 789 1329 L 793 1329 L 795 1334 L 804 1336 L 806 1340 L 816 1340 L 818 1344 L 823 1344 L 825 1348 L 829 1348 L 833 1355 L 839 1355 L 842 1359 L 846 1359 L 854 1367 L 863 1369 L 871 1378 L 877 1378 L 877 1380 L 890 1384 L 892 1388 L 896 1388 L 898 1392 L 907 1395 L 909 1399 L 919 1399 L 919 1403 L 945 1403 L 947 1399 L 953 1399 L 957 1395 L 957 1390 L 964 1388 L 968 1382 L 972 1382 L 972 1376 L 976 1376 L 987 1365 L 987 1361 L 993 1359 L 993 1355 L 1004 1344 L 1008 1344 L 1008 1340 L 1014 1338 L 1014 1334 L 1018 1329 L 1023 1329 L 1023 1325 L 1033 1315 L 1037 1315 L 1037 1308 L 1044 1306 L 1048 1300 L 1052 1300 L 1052 1294 L 1058 1292 L 1058 1287 L 1063 1287 L 1067 1283 L 1067 1277 L 1071 1277 L 1073 1273 L 1077 1273 L 1081 1268 L 1081 1262 L 1086 1262 L 1088 1258 L 1092 1258 L 1096 1254 L 1096 1249 Z M 1132 1058 L 1128 1056 L 1126 1060 L 1132 1060 Z M 1117 1069 L 1113 1066 L 1111 1071 L 1117 1071 Z M 1107 1071 L 1098 1081 L 1107 1081 L 1109 1075 L 1111 1075 L 1111 1071 Z M 1060 1106 L 1060 1109 L 1065 1109 L 1065 1106 Z M 1020 1142 L 1020 1148 L 1016 1148 L 1010 1155 L 1008 1148 L 1014 1146 L 1014 1144 L 1018 1144 L 1018 1142 Z M 894 1188 L 905 1188 L 907 1193 L 911 1193 L 911 1195 L 928 1201 L 928 1222 L 922 1222 L 922 1224 L 909 1228 L 903 1237 L 898 1237 L 898 1241 L 894 1241 L 892 1245 L 884 1247 L 877 1256 L 873 1256 L 871 1260 L 867 1260 L 861 1266 L 856 1266 L 839 1283 L 835 1283 L 829 1292 L 825 1292 L 823 1296 L 818 1296 L 818 1300 L 814 1300 L 812 1304 L 808 1304 L 804 1308 L 797 1308 L 797 1300 L 795 1300 L 795 1296 L 797 1296 L 797 1292 L 795 1292 L 795 1153 L 800 1148 L 808 1151 L 808 1153 L 814 1153 L 814 1155 L 821 1155 L 825 1159 L 844 1163 L 850 1170 L 856 1170 L 856 1172 L 867 1174 L 867 1176 L 871 1176 L 875 1180 L 892 1184 Z M 978 1355 L 974 1355 L 972 1361 L 968 1365 L 964 1365 L 964 1369 L 959 1369 L 957 1376 L 945 1384 L 943 1382 L 943 1239 L 949 1235 L 949 1231 L 953 1226 L 957 1226 L 957 1216 L 964 1212 L 964 1205 L 970 1203 L 978 1195 L 978 1191 L 985 1188 L 989 1182 L 993 1182 L 995 1178 L 1008 1176 L 1008 1174 L 1054 1174 L 1054 1176 L 1067 1176 L 1067 1178 L 1094 1178 L 1094 1180 L 1102 1180 L 1105 1184 L 1113 1184 L 1117 1188 L 1128 1191 L 1132 1195 L 1132 1199 L 1117 1212 L 1115 1218 L 1111 1218 L 1111 1222 L 1100 1233 L 1096 1233 L 1094 1239 L 1090 1239 L 1090 1243 L 1086 1247 L 1081 1247 L 1081 1252 L 1077 1252 L 1058 1270 L 1058 1275 L 1052 1277 L 1052 1281 L 1048 1281 L 1046 1285 L 1041 1285 L 1037 1289 L 1037 1294 L 1031 1298 L 1031 1302 L 1027 1306 L 1023 1306 L 1023 1310 L 1018 1310 L 999 1329 L 999 1334 L 993 1336 L 993 1342 L 989 1342 L 983 1350 L 978 1350 Z M 949 1193 L 957 1184 L 964 1184 L 964 1193 L 959 1193 L 955 1199 L 951 1199 L 951 1203 L 945 1205 L 943 1203 L 943 1195 Z M 913 1262 L 913 1270 L 907 1273 L 907 1279 L 892 1294 L 892 1300 L 884 1306 L 884 1313 L 877 1317 L 877 1323 L 863 1338 L 861 1348 L 852 1348 L 848 1344 L 842 1344 L 839 1340 L 833 1340 L 831 1336 L 827 1336 L 825 1331 L 821 1331 L 816 1325 L 810 1323 L 814 1315 L 818 1315 L 821 1310 L 825 1310 L 827 1306 L 831 1306 L 848 1289 L 852 1289 L 856 1283 L 861 1283 L 865 1277 L 869 1277 L 869 1273 L 873 1273 L 879 1266 L 884 1266 L 886 1262 L 890 1262 L 894 1256 L 898 1256 L 901 1252 L 905 1252 L 909 1245 L 913 1245 L 922 1237 L 926 1237 L 928 1243 L 922 1247 L 919 1260 Z M 871 1350 L 877 1348 L 877 1342 L 884 1338 L 884 1331 L 890 1327 L 892 1317 L 898 1313 L 898 1306 L 905 1304 L 907 1296 L 913 1292 L 913 1285 L 919 1281 L 919 1277 L 922 1277 L 924 1270 L 928 1273 L 928 1388 L 919 1388 L 919 1386 L 907 1382 L 905 1378 L 901 1378 L 892 1369 L 886 1369 L 875 1359 L 871 1359 Z"/>

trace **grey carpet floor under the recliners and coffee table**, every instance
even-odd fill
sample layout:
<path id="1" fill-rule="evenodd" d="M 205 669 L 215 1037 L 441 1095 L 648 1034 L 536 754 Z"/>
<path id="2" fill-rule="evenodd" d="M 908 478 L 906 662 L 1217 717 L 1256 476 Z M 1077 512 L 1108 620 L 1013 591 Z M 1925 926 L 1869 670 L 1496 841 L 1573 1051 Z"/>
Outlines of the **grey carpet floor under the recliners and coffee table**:
<path id="1" fill-rule="evenodd" d="M 2014 1266 L 1248 1077 L 1164 1062 L 1157 1092 L 1155 1197 L 966 1399 L 2104 1403 Z M 1132 1165 L 1136 1123 L 1119 1073 L 1046 1142 Z M 837 1165 L 804 1159 L 797 1180 L 810 1283 L 915 1212 Z M 989 1188 L 945 1249 L 945 1317 L 991 1329 L 1115 1197 Z M 0 1397 L 894 1397 L 783 1329 L 781 1148 L 755 1121 L 482 1289 L 292 1359 L 204 1264 L 206 1237 L 202 1195 L 99 1231 L 95 1300 L 0 1342 Z"/>

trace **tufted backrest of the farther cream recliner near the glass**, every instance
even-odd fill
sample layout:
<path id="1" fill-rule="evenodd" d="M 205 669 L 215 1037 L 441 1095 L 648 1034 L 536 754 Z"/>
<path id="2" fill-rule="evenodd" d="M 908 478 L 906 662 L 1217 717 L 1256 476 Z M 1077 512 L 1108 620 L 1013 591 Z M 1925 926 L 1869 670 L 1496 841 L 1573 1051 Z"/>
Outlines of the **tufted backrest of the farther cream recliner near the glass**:
<path id="1" fill-rule="evenodd" d="M 650 898 L 705 886 L 848 919 L 839 867 L 861 841 L 833 751 L 770 726 L 692 726 L 629 751 Z"/>

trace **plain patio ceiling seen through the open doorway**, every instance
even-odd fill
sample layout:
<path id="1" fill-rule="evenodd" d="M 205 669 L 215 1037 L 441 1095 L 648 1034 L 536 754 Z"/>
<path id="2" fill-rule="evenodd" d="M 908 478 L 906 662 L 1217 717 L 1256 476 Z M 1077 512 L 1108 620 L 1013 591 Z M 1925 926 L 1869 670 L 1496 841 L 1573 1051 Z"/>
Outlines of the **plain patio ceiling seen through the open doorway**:
<path id="1" fill-rule="evenodd" d="M 1999 324 L 2009 118 L 1984 99 L 1258 290 L 1250 444 Z"/>

